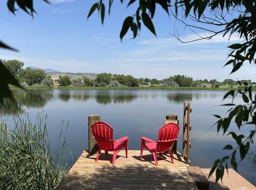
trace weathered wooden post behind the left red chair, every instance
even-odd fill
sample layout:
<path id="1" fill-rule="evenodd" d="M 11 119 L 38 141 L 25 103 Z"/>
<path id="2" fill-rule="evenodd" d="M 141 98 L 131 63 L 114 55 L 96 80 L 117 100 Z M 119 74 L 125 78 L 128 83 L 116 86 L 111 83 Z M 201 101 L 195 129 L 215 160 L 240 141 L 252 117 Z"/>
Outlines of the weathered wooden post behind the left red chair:
<path id="1" fill-rule="evenodd" d="M 93 139 L 93 132 L 91 126 L 100 121 L 100 115 L 89 115 L 88 116 L 88 144 L 89 144 L 89 153 L 95 154 L 98 151 L 98 144 L 95 139 Z"/>

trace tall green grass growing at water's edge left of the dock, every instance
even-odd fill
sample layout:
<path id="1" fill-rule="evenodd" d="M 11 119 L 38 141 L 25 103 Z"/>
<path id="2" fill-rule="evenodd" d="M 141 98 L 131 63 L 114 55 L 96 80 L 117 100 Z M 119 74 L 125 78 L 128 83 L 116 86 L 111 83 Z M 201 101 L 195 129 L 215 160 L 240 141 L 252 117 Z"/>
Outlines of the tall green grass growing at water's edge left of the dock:
<path id="1" fill-rule="evenodd" d="M 52 190 L 60 184 L 69 164 L 62 165 L 66 140 L 55 156 L 51 155 L 46 129 L 47 115 L 37 114 L 31 122 L 29 115 L 13 116 L 14 126 L 9 128 L 3 119 L 0 123 L 0 189 Z"/>

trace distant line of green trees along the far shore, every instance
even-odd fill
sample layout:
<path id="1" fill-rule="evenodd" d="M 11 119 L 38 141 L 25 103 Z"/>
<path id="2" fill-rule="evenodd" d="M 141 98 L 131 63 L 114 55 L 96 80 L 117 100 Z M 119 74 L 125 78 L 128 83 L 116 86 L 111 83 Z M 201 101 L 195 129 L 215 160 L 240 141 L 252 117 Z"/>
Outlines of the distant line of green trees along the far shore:
<path id="1" fill-rule="evenodd" d="M 0 59 L 4 66 L 11 72 L 11 74 L 20 81 L 23 85 L 43 85 L 43 86 L 53 86 L 53 79 L 41 69 L 31 69 L 27 67 L 23 69 L 24 63 L 22 61 L 13 60 L 3 60 Z M 153 84 L 162 86 L 173 86 L 173 87 L 206 87 L 211 86 L 212 88 L 218 88 L 221 85 L 229 85 L 230 88 L 233 85 L 240 83 L 256 84 L 251 80 L 241 80 L 234 81 L 232 79 L 225 79 L 224 81 L 217 81 L 217 79 L 212 80 L 193 80 L 192 77 L 185 75 L 174 75 L 169 78 L 157 80 L 148 78 L 136 79 L 131 75 L 119 75 L 111 73 L 100 73 L 96 76 L 96 79 L 90 79 L 86 76 L 75 76 L 70 78 L 69 76 L 60 76 L 57 80 L 61 86 L 109 86 L 109 87 L 119 87 L 119 86 L 129 86 L 136 87 L 143 84 Z"/>

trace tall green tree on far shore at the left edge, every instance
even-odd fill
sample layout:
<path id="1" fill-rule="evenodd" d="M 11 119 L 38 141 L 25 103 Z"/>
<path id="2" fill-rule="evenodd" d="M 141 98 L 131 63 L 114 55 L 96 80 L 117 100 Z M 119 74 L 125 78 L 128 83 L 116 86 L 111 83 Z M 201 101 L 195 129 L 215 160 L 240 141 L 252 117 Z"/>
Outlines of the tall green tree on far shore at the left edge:
<path id="1" fill-rule="evenodd" d="M 3 65 L 10 71 L 10 73 L 17 79 L 22 71 L 24 63 L 22 61 L 13 60 L 3 60 L 1 59 Z"/>

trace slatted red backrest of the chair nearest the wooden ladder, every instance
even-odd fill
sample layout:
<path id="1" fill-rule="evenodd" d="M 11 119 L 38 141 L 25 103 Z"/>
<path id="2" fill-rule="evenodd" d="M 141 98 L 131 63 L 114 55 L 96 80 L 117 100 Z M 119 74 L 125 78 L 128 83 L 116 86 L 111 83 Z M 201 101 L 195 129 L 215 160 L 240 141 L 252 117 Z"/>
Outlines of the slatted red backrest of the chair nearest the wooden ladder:
<path id="1" fill-rule="evenodd" d="M 166 151 L 171 147 L 179 134 L 180 127 L 175 123 L 167 123 L 159 129 L 157 151 Z"/>

